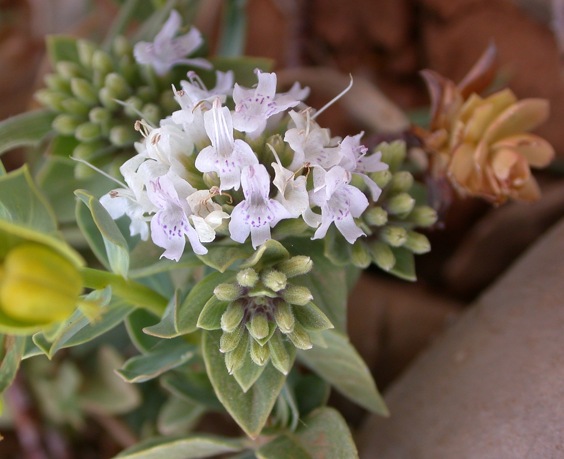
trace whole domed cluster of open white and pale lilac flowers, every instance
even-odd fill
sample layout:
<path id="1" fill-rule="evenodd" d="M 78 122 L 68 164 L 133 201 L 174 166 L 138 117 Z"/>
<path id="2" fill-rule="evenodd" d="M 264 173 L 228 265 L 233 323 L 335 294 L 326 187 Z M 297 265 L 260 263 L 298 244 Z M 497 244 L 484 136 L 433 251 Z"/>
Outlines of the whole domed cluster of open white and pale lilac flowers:
<path id="1" fill-rule="evenodd" d="M 155 57 L 153 65 L 163 64 Z M 120 168 L 126 183 L 102 204 L 113 218 L 131 218 L 132 235 L 147 239 L 150 228 L 166 258 L 178 260 L 186 238 L 205 254 L 218 234 L 240 243 L 250 236 L 257 248 L 284 219 L 303 221 L 312 239 L 332 223 L 350 244 L 365 235 L 355 219 L 380 196 L 371 175 L 388 167 L 381 153 L 369 154 L 363 133 L 332 138 L 303 105 L 307 88 L 276 92 L 275 73 L 255 74 L 257 85 L 246 88 L 217 71 L 208 89 L 189 72 L 173 87 L 176 111 L 158 127 L 136 123 L 145 140 Z"/>

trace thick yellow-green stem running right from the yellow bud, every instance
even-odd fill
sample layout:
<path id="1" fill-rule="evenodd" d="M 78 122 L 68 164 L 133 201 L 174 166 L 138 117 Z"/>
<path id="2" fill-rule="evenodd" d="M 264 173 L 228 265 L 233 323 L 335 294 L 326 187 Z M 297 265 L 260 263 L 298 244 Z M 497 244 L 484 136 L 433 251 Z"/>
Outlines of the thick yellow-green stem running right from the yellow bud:
<path id="1" fill-rule="evenodd" d="M 161 317 L 165 312 L 168 300 L 146 285 L 131 279 L 124 279 L 108 271 L 93 268 L 81 268 L 81 275 L 87 288 L 99 290 L 109 285 L 114 294 L 135 306 L 142 307 L 158 317 Z"/>

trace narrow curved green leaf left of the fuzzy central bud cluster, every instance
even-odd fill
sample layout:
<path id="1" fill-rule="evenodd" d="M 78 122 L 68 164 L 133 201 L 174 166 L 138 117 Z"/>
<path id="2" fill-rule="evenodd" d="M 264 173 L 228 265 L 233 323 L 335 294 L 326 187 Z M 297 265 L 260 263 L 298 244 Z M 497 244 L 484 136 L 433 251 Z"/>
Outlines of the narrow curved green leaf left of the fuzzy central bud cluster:
<path id="1" fill-rule="evenodd" d="M 213 272 L 197 283 L 178 309 L 179 333 L 192 333 L 197 329 L 198 317 L 208 300 L 213 297 L 213 291 L 219 284 L 230 283 L 235 273 Z"/>

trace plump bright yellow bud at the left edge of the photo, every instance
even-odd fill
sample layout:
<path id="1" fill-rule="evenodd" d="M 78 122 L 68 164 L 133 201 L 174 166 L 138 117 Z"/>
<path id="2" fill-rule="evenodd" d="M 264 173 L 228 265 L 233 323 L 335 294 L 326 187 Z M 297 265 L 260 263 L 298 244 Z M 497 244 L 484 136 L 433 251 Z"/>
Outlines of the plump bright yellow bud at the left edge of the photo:
<path id="1" fill-rule="evenodd" d="M 0 307 L 9 317 L 49 324 L 77 308 L 82 278 L 55 250 L 33 242 L 8 251 L 0 270 Z"/>

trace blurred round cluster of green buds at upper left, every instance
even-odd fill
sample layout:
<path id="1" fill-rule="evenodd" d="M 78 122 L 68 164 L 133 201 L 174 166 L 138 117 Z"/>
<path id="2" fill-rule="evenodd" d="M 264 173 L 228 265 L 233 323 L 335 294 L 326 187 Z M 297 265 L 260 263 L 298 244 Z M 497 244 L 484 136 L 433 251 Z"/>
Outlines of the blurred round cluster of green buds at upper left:
<path id="1" fill-rule="evenodd" d="M 52 123 L 56 133 L 76 139 L 74 157 L 102 165 L 108 153 L 118 149 L 130 150 L 125 157 L 133 155 L 139 140 L 135 121 L 144 118 L 158 124 L 175 109 L 172 81 L 139 65 L 125 37 L 116 38 L 109 52 L 85 39 L 76 42 L 76 50 L 73 60 L 52 63 L 55 72 L 45 77 L 46 88 L 36 92 L 36 99 L 58 113 Z M 121 164 L 124 156 L 118 161 Z M 89 174 L 89 167 L 77 163 L 77 176 Z"/>

